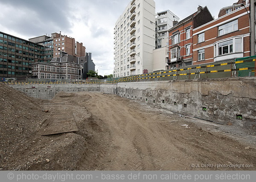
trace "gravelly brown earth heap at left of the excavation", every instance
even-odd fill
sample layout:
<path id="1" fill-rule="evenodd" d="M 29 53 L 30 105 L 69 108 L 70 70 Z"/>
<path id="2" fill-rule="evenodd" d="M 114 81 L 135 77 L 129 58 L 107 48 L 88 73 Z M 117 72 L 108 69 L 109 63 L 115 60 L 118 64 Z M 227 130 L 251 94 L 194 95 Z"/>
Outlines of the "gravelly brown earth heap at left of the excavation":
<path id="1" fill-rule="evenodd" d="M 2 83 L 0 101 L 0 170 L 77 169 L 90 139 L 86 131 L 41 136 L 58 112 L 45 104 L 52 101 L 30 98 Z M 90 118 L 84 113 L 76 123 L 80 128 Z"/>

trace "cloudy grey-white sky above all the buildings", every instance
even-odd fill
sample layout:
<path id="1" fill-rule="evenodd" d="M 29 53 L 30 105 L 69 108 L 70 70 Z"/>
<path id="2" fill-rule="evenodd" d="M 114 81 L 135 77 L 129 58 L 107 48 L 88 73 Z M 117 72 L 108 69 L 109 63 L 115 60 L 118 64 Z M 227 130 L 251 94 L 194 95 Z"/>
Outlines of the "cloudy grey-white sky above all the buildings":
<path id="1" fill-rule="evenodd" d="M 180 20 L 207 6 L 212 16 L 238 0 L 155 0 L 156 12 L 169 9 Z M 113 73 L 113 28 L 130 0 L 0 0 L 0 31 L 19 38 L 60 32 L 92 52 L 99 75 Z M 101 66 L 101 67 L 99 67 Z"/>

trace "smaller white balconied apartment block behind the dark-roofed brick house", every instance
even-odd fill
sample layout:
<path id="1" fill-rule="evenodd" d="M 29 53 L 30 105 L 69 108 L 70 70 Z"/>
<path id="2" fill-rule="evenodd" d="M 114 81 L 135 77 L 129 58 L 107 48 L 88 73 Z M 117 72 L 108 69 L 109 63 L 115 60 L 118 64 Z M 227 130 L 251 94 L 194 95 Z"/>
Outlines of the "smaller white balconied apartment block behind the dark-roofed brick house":
<path id="1" fill-rule="evenodd" d="M 179 17 L 177 17 L 173 12 L 170 10 L 166 10 L 163 12 L 158 12 L 156 14 L 156 26 L 155 26 L 155 31 L 156 31 L 156 40 L 155 40 L 155 48 L 161 48 L 162 46 L 162 39 L 168 38 L 168 32 L 170 28 L 173 27 L 173 22 L 179 21 Z"/>

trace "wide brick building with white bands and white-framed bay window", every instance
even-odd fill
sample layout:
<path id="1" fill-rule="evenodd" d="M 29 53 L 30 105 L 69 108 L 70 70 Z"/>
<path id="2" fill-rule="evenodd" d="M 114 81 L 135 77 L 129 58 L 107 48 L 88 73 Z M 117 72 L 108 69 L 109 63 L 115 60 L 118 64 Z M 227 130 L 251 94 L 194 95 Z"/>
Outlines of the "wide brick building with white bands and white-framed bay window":
<path id="1" fill-rule="evenodd" d="M 250 5 L 245 6 L 249 11 Z M 236 9 L 193 29 L 193 65 L 250 56 L 246 10 Z"/>

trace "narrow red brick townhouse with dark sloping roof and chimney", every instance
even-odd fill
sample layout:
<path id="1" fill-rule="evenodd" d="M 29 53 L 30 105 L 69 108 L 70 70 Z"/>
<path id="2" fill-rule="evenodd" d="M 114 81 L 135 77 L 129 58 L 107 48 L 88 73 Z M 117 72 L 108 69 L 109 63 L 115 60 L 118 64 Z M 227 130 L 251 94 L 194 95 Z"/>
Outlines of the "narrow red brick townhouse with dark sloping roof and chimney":
<path id="1" fill-rule="evenodd" d="M 169 69 L 192 65 L 192 30 L 212 20 L 207 6 L 199 6 L 197 12 L 169 29 Z"/>

